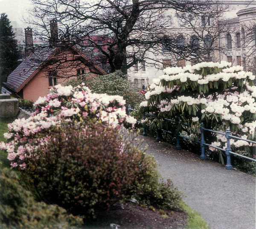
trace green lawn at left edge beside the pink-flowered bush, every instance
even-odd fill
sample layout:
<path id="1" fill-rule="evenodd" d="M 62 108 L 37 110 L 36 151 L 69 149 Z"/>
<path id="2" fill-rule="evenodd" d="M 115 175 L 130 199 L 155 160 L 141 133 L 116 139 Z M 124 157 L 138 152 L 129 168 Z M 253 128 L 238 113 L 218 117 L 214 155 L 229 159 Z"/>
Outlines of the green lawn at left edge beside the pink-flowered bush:
<path id="1" fill-rule="evenodd" d="M 3 134 L 8 131 L 7 124 L 13 122 L 14 118 L 0 118 L 0 142 L 5 142 Z M 0 150 L 0 168 L 9 168 L 10 162 L 6 158 L 7 154 L 5 151 Z"/>

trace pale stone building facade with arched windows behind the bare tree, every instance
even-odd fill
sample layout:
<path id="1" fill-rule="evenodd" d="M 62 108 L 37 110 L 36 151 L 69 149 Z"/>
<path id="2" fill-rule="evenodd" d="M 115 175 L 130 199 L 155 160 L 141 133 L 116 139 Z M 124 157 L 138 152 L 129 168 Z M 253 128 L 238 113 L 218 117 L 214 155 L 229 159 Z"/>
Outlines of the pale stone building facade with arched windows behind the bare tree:
<path id="1" fill-rule="evenodd" d="M 227 10 L 221 18 L 218 18 L 216 29 L 222 26 L 225 32 L 218 35 L 215 42 L 219 48 L 214 50 L 206 61 L 229 61 L 233 65 L 242 65 L 244 70 L 256 74 L 256 2 L 221 0 L 219 4 Z M 169 15 L 175 15 L 175 12 L 170 12 Z M 177 33 L 190 34 L 190 38 L 193 37 L 192 29 L 179 27 L 175 16 L 170 17 L 170 20 Z M 201 18 L 198 26 L 201 23 L 205 26 L 212 26 L 212 19 Z M 208 39 L 207 35 L 205 38 Z M 138 63 L 128 70 L 128 79 L 137 84 L 139 88 L 143 84 L 146 87 L 150 85 L 154 78 L 163 75 L 163 69 L 168 66 L 183 67 L 194 64 L 192 61 L 171 56 L 164 48 L 160 54 L 154 56 L 153 53 L 148 53 L 147 55 L 147 61 Z"/>

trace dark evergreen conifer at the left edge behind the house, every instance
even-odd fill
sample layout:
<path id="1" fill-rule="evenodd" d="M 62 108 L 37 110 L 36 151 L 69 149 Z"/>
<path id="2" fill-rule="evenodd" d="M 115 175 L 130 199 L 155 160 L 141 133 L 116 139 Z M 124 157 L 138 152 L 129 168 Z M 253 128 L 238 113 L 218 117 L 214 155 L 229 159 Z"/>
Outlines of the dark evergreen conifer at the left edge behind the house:
<path id="1" fill-rule="evenodd" d="M 0 92 L 7 76 L 17 67 L 19 52 L 15 33 L 5 13 L 0 16 Z"/>

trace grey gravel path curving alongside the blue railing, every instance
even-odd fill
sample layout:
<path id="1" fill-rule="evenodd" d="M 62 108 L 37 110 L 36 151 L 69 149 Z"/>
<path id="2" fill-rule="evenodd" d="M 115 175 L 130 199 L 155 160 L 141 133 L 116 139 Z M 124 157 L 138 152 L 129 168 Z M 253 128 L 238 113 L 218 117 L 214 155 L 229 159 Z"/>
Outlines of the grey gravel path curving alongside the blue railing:
<path id="1" fill-rule="evenodd" d="M 139 136 L 148 145 L 164 179 L 183 192 L 183 200 L 201 214 L 211 229 L 256 229 L 255 177 L 198 155 L 176 150 L 166 142 Z"/>

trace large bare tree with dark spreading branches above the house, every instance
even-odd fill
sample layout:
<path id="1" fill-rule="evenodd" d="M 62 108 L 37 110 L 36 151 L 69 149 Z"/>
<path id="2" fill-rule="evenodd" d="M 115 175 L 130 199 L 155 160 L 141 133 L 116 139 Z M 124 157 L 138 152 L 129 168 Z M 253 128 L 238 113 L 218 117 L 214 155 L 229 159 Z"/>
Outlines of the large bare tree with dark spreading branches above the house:
<path id="1" fill-rule="evenodd" d="M 218 49 L 218 35 L 210 33 L 216 31 L 215 19 L 223 9 L 210 0 L 32 1 L 38 35 L 46 36 L 54 45 L 79 45 L 94 64 L 105 64 L 109 72 L 126 72 L 134 64 L 150 60 L 148 53 L 160 54 L 162 48 L 177 59 L 197 60 Z M 179 18 L 178 29 L 170 14 Z M 207 21 L 203 26 L 202 18 Z M 58 22 L 58 42 L 52 42 L 52 19 Z M 210 26 L 208 19 L 212 20 Z M 185 38 L 180 35 L 183 32 Z"/>

